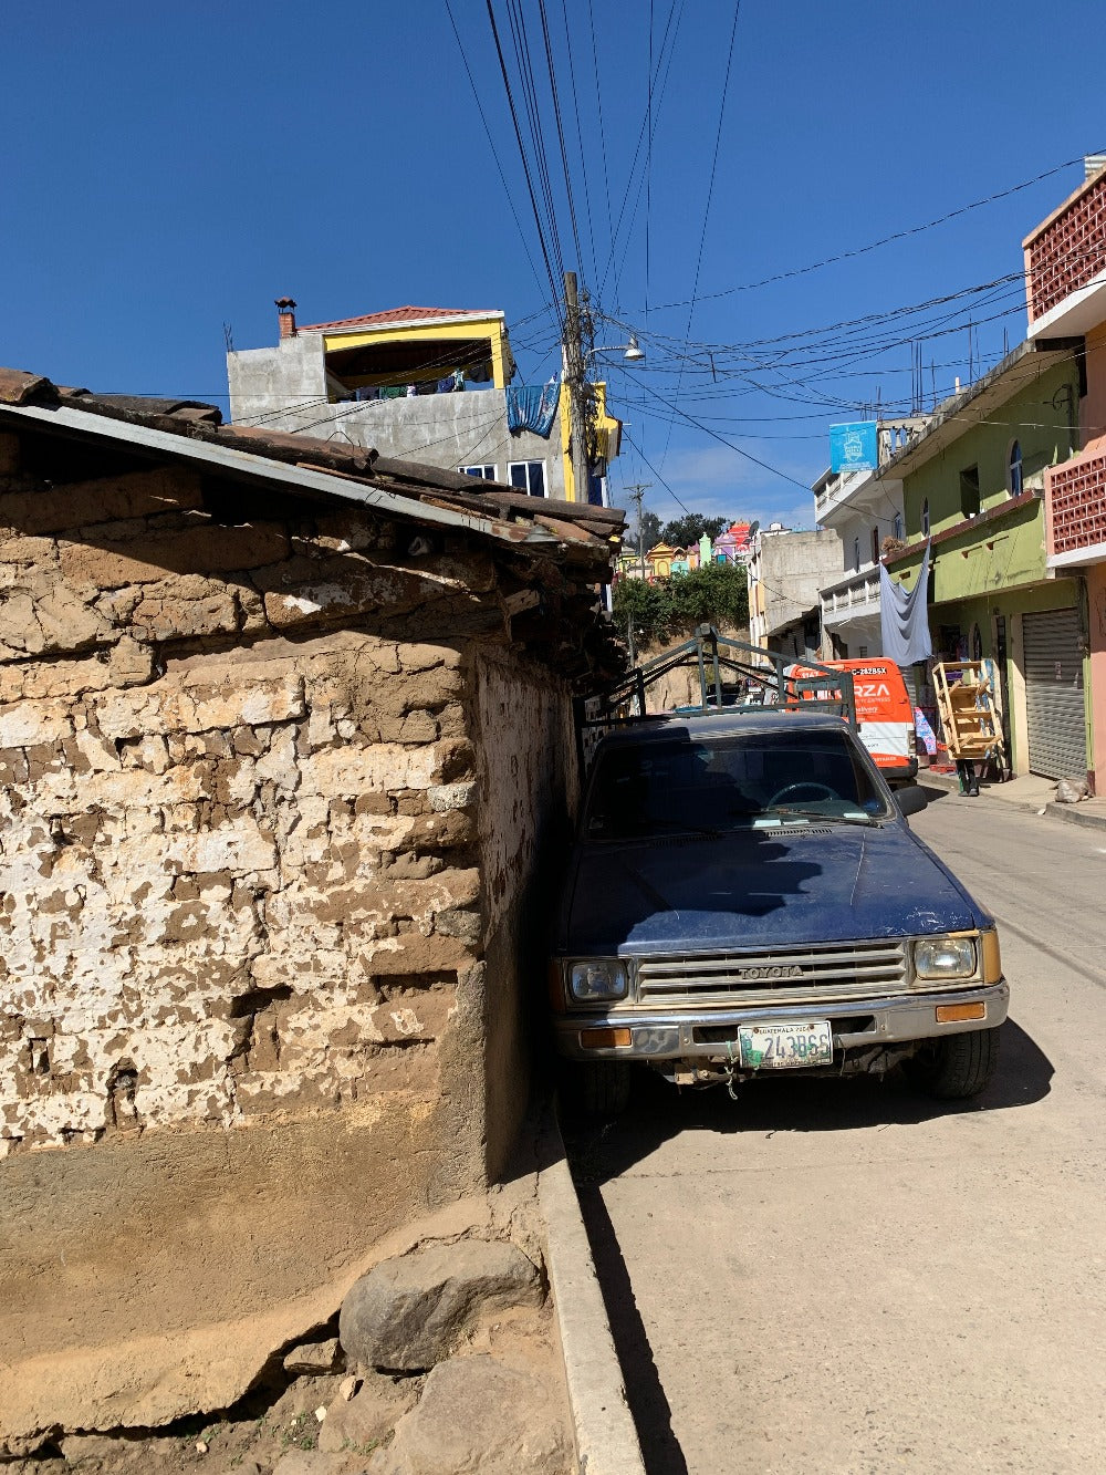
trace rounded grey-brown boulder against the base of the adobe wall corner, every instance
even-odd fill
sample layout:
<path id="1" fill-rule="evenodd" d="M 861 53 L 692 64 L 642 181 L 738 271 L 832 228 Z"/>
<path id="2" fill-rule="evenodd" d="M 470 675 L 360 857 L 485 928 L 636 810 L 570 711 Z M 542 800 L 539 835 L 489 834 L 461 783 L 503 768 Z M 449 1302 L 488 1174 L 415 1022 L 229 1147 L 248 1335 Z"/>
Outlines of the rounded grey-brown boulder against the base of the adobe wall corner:
<path id="1" fill-rule="evenodd" d="M 448 1357 L 481 1316 L 541 1298 L 538 1271 L 515 1245 L 426 1245 L 361 1276 L 342 1302 L 338 1335 L 347 1357 L 366 1367 L 423 1372 Z"/>

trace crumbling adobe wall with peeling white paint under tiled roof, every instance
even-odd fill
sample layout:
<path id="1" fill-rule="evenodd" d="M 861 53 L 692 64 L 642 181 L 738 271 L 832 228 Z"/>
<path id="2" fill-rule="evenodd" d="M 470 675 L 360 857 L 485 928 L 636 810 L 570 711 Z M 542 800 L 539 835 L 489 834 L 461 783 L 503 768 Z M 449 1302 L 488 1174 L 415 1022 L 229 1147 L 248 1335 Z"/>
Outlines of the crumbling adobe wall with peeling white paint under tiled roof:
<path id="1" fill-rule="evenodd" d="M 3 450 L 10 1434 L 50 1413 L 43 1356 L 86 1426 L 153 1422 L 119 1347 L 341 1294 L 487 1181 L 571 746 L 487 555 L 413 562 L 410 530 L 326 509 L 220 527 L 190 473 L 47 488 Z M 189 1412 L 158 1378 L 158 1417 Z"/>

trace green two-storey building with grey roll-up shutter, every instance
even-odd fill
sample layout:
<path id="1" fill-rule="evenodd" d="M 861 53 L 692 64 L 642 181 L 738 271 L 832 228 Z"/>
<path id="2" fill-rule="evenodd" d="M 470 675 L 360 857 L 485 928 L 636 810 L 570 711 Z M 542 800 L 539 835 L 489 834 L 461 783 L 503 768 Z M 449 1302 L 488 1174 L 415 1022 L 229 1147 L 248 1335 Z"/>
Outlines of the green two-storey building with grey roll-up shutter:
<path id="1" fill-rule="evenodd" d="M 907 547 L 891 577 L 913 587 L 931 543 L 933 661 L 991 656 L 1010 767 L 1057 779 L 1087 768 L 1087 634 L 1079 580 L 1046 562 L 1043 496 L 1079 444 L 1082 369 L 1071 341 L 1022 344 L 880 468 L 902 485 Z M 932 708 L 929 670 L 914 681 Z"/>

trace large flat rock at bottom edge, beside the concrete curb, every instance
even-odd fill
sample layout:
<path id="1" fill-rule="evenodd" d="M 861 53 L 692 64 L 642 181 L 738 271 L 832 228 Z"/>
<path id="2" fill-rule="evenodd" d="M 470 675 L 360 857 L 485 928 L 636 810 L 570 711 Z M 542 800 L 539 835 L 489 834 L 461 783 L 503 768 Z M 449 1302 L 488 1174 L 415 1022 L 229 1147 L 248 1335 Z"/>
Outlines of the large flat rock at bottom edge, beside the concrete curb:
<path id="1" fill-rule="evenodd" d="M 495 1357 L 451 1357 L 369 1475 L 569 1475 L 574 1456 L 559 1395 Z"/>

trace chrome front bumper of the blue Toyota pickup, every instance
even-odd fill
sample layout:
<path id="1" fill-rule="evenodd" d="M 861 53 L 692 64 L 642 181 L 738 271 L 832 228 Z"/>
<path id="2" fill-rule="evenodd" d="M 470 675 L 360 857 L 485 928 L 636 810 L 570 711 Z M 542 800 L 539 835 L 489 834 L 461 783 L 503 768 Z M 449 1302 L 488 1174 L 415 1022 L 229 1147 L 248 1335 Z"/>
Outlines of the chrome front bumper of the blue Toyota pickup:
<path id="1" fill-rule="evenodd" d="M 970 1004 L 982 1002 L 985 1018 L 936 1022 L 938 1004 Z M 711 1007 L 696 1009 L 627 1009 L 608 1013 L 577 1010 L 553 1021 L 557 1053 L 574 1061 L 724 1061 L 727 1040 L 737 1040 L 743 1024 L 783 1024 L 802 1019 L 829 1019 L 833 1032 L 833 1053 L 849 1049 L 872 1049 L 902 1044 L 910 1040 L 933 1040 L 942 1034 L 963 1034 L 970 1030 L 992 1030 L 1006 1019 L 1010 990 L 1006 979 L 997 984 L 975 984 L 963 990 L 942 988 L 939 993 L 916 991 L 889 999 L 849 999 L 846 1002 L 802 1003 L 765 1009 Z M 628 1046 L 581 1046 L 581 1031 L 630 1030 Z"/>

